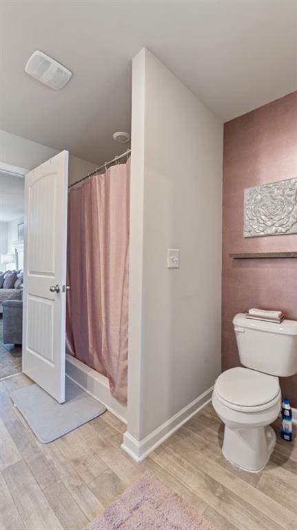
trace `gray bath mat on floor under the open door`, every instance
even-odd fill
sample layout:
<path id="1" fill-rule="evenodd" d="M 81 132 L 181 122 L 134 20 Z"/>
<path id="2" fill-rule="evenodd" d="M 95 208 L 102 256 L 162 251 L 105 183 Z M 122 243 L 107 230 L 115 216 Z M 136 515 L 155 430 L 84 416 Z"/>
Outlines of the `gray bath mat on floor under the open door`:
<path id="1" fill-rule="evenodd" d="M 63 404 L 35 383 L 14 390 L 10 397 L 42 444 L 57 440 L 106 410 L 68 377 Z"/>

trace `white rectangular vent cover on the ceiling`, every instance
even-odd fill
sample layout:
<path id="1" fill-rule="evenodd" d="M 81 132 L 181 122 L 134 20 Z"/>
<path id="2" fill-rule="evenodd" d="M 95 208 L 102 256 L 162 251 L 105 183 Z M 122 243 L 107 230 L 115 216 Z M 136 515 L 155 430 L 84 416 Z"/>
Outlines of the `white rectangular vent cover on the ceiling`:
<path id="1" fill-rule="evenodd" d="M 72 72 L 43 52 L 34 52 L 25 65 L 25 72 L 41 83 L 60 90 L 70 80 Z"/>

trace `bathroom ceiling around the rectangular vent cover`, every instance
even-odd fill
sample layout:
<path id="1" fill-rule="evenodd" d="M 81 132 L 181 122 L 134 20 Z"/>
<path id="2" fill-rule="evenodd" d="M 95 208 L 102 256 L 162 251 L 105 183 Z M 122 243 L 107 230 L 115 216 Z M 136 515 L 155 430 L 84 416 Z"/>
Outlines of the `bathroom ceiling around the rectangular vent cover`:
<path id="1" fill-rule="evenodd" d="M 101 164 L 125 150 L 131 61 L 143 46 L 223 121 L 297 88 L 296 0 L 1 1 L 0 128 Z M 34 50 L 73 72 L 28 77 Z"/>

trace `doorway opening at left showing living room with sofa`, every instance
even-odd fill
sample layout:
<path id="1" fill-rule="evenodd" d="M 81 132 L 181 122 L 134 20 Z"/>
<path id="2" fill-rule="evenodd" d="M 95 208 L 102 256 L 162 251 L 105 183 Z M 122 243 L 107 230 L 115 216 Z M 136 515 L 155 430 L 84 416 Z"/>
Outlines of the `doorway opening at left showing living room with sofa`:
<path id="1" fill-rule="evenodd" d="M 21 372 L 25 172 L 0 162 L 0 379 Z"/>

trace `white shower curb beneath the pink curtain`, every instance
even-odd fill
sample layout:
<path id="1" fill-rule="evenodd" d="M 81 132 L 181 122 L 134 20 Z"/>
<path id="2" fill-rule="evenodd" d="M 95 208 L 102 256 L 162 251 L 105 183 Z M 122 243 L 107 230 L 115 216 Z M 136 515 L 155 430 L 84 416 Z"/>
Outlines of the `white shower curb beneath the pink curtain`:
<path id="1" fill-rule="evenodd" d="M 107 377 L 68 353 L 66 353 L 66 376 L 106 406 L 107 411 L 127 424 L 127 406 L 112 397 Z"/>

